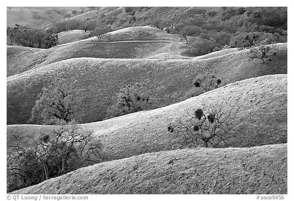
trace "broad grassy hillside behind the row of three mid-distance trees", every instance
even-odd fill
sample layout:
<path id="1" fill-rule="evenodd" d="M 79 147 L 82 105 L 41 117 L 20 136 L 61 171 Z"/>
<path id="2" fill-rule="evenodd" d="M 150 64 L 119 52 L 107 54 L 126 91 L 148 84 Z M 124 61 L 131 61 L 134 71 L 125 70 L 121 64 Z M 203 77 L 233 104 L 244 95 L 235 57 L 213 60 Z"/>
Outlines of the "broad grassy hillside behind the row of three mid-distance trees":
<path id="1" fill-rule="evenodd" d="M 77 55 L 77 52 L 93 54 L 95 50 L 92 43 L 84 43 L 84 49 L 79 50 L 74 47 L 80 42 L 74 44 L 72 49 L 68 49 L 67 45 L 57 47 L 59 54 L 56 53 L 55 57 L 47 56 L 47 60 L 40 65 L 54 62 L 57 57 L 62 60 L 69 54 Z M 101 43 L 97 43 L 99 45 Z M 193 79 L 199 74 L 211 73 L 226 83 L 268 74 L 286 74 L 287 44 L 278 44 L 277 48 L 277 58 L 265 64 L 259 60 L 249 60 L 249 50 L 211 56 L 210 59 L 76 58 L 54 62 L 7 78 L 7 123 L 27 123 L 41 87 L 54 77 L 67 78 L 68 82 L 78 80 L 82 85 L 85 104 L 82 105 L 80 119 L 87 123 L 102 120 L 119 88 L 129 83 L 141 83 L 142 90 L 150 94 L 152 108 L 158 108 L 181 100 L 185 92 L 193 87 Z M 64 52 L 68 55 L 65 56 Z M 145 53 L 142 51 L 142 54 Z"/>

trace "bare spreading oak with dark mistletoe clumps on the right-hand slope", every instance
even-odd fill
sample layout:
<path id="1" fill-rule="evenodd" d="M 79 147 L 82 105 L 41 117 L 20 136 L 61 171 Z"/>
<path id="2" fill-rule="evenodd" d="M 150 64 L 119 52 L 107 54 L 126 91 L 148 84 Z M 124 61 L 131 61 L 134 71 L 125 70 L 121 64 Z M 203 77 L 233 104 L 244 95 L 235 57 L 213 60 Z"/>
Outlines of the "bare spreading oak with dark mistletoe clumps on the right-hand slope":
<path id="1" fill-rule="evenodd" d="M 228 147 L 235 138 L 234 119 L 219 106 L 200 107 L 167 127 L 181 147 Z"/>

